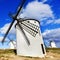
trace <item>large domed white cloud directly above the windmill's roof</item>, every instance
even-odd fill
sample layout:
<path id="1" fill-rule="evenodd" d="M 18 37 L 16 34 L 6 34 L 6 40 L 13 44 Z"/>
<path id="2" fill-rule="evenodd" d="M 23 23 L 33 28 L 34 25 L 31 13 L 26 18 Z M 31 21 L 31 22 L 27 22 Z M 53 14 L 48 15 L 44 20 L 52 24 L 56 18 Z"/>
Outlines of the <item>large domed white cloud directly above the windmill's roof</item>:
<path id="1" fill-rule="evenodd" d="M 49 17 L 54 18 L 51 7 L 38 1 L 28 3 L 19 17 L 34 18 L 40 21 Z"/>

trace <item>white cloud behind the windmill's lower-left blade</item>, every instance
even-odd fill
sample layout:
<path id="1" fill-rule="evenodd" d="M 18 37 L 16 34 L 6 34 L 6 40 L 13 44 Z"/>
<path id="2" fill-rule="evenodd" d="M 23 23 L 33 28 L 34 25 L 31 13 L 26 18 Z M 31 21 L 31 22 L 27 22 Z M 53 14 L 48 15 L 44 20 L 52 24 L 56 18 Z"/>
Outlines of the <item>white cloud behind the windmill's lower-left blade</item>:
<path id="1" fill-rule="evenodd" d="M 16 31 L 15 31 L 15 28 L 14 28 L 15 23 L 13 24 L 13 26 L 12 26 L 9 34 L 8 34 L 8 36 L 12 39 L 14 39 L 15 35 L 16 35 Z M 10 26 L 10 23 L 7 23 L 2 28 L 0 28 L 0 34 L 2 35 L 2 36 L 0 36 L 0 40 L 2 40 L 2 38 L 4 37 L 4 35 L 5 35 L 6 31 L 8 30 L 9 26 Z M 7 39 L 8 39 L 8 37 L 5 40 L 7 40 Z"/>

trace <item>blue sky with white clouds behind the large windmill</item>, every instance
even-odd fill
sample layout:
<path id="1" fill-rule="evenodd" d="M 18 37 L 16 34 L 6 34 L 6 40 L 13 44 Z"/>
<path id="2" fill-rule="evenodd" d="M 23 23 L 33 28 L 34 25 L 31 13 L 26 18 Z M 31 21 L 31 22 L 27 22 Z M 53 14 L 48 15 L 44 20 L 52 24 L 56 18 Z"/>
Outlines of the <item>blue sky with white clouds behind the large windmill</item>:
<path id="1" fill-rule="evenodd" d="M 12 18 L 8 14 L 16 13 L 22 0 L 0 0 L 0 40 L 8 29 Z M 60 1 L 59 0 L 26 0 L 20 17 L 34 18 L 40 21 L 41 32 L 45 44 L 49 46 L 50 40 L 54 40 L 60 47 Z M 13 26 L 14 27 L 14 26 Z M 12 32 L 14 31 L 14 32 Z M 15 40 L 15 29 L 12 28 L 8 36 Z M 47 38 L 48 36 L 48 38 Z M 6 38 L 9 41 L 8 38 Z M 8 47 L 6 44 L 0 48 Z"/>

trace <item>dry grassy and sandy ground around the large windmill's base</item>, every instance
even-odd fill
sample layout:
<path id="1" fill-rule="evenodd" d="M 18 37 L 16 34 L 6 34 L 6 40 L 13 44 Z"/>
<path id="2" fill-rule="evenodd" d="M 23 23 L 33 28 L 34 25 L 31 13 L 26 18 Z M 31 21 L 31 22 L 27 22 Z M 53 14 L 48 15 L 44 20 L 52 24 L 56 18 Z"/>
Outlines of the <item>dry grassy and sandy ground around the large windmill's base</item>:
<path id="1" fill-rule="evenodd" d="M 60 48 L 47 48 L 44 58 L 17 56 L 14 50 L 0 50 L 0 60 L 60 60 Z"/>

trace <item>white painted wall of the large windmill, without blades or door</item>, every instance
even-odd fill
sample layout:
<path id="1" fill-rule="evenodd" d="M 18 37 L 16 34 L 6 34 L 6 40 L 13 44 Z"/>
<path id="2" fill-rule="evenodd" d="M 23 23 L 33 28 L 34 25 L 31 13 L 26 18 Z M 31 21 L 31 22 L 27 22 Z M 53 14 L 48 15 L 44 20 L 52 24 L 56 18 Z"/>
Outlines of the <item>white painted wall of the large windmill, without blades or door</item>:
<path id="1" fill-rule="evenodd" d="M 34 20 L 29 20 L 29 21 L 31 23 L 39 26 L 39 23 L 37 21 L 36 21 L 36 23 L 34 23 Z M 46 54 L 46 51 L 45 51 L 43 39 L 41 36 L 41 31 L 39 31 L 35 37 L 33 37 L 31 34 L 26 32 L 25 30 L 24 30 L 24 32 L 30 41 L 29 46 L 27 45 L 24 35 L 22 34 L 20 28 L 18 26 L 16 26 L 17 55 L 31 56 L 31 57 L 44 57 Z M 43 52 L 42 52 L 41 44 L 43 44 L 45 54 L 43 54 Z"/>

